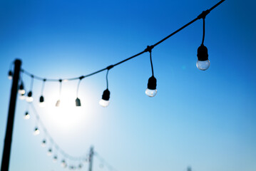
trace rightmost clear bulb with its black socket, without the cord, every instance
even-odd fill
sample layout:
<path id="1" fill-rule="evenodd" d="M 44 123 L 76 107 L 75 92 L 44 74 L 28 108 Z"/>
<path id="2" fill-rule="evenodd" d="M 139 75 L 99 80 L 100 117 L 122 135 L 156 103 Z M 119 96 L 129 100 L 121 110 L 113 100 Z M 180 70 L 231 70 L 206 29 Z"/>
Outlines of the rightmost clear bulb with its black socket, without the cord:
<path id="1" fill-rule="evenodd" d="M 208 59 L 208 49 L 201 44 L 198 48 L 198 61 L 196 63 L 198 69 L 205 71 L 210 67 L 210 61 Z"/>

